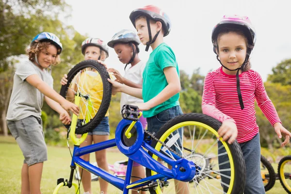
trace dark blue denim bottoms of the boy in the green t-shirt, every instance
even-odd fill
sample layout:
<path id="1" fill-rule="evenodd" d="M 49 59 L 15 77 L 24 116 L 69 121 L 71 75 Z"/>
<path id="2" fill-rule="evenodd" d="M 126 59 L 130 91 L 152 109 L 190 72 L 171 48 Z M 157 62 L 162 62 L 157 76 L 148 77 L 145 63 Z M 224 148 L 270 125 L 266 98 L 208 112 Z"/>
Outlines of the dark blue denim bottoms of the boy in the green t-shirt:
<path id="1" fill-rule="evenodd" d="M 160 128 L 163 126 L 163 124 L 165 124 L 167 121 L 181 114 L 183 114 L 183 112 L 182 112 L 181 107 L 178 105 L 178 106 L 174 106 L 172 108 L 166 109 L 162 111 L 161 113 L 158 113 L 154 116 L 148 117 L 146 118 L 147 130 L 151 133 L 155 132 L 155 136 L 156 136 Z M 183 130 L 184 128 L 178 129 L 180 138 L 177 140 L 177 143 L 179 146 L 182 146 Z M 173 132 L 173 135 L 175 134 L 177 134 L 177 130 Z M 169 138 L 171 138 L 171 135 L 169 136 Z M 174 149 L 179 154 L 181 154 L 181 151 L 177 147 L 172 146 L 171 148 Z"/>

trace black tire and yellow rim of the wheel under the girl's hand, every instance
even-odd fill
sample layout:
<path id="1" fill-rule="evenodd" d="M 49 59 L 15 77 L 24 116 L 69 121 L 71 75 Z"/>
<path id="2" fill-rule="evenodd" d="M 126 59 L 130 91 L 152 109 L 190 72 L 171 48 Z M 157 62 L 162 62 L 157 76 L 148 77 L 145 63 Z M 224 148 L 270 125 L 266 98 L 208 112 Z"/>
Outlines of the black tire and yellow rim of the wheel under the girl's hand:
<path id="1" fill-rule="evenodd" d="M 156 137 L 160 141 L 163 142 L 166 139 L 166 137 L 168 137 L 167 134 L 171 134 L 172 133 L 171 131 L 174 131 L 176 129 L 178 130 L 181 126 L 186 125 L 188 123 L 201 124 L 201 126 L 208 127 L 208 129 L 210 129 L 211 132 L 215 130 L 215 132 L 213 132 L 213 133 L 215 133 L 216 137 L 218 137 L 217 130 L 221 126 L 221 122 L 217 121 L 216 119 L 214 119 L 208 115 L 200 114 L 200 113 L 186 113 L 186 114 L 176 116 L 175 118 L 173 118 L 170 121 L 168 121 L 167 123 L 165 123 L 162 126 L 162 128 L 159 130 L 159 132 L 157 133 Z M 185 133 L 185 131 L 184 131 L 184 133 Z M 194 133 L 195 133 L 195 131 L 194 131 Z M 215 141 L 217 141 L 216 138 L 215 138 Z M 170 142 L 170 140 L 169 140 L 169 142 Z M 229 188 L 228 188 L 226 193 L 227 194 L 242 194 L 243 189 L 244 189 L 244 185 L 245 185 L 245 163 L 244 163 L 244 159 L 243 159 L 243 155 L 242 155 L 242 150 L 241 150 L 239 144 L 237 143 L 237 141 L 235 141 L 231 145 L 229 145 L 227 142 L 222 142 L 222 143 L 227 146 L 227 148 L 228 148 L 227 154 L 228 154 L 228 156 L 229 156 L 229 154 L 231 155 L 230 158 L 231 158 L 231 161 L 233 164 L 232 168 L 231 168 L 232 169 L 232 173 L 231 173 L 232 178 L 230 178 Z M 151 146 L 153 148 L 155 148 L 157 151 L 161 150 L 161 144 L 160 143 L 158 144 L 158 142 L 155 140 L 152 141 Z M 153 158 L 155 156 L 150 152 L 149 152 L 149 155 Z M 155 156 L 155 160 L 157 160 L 157 156 Z M 156 174 L 156 172 L 151 171 L 150 169 L 146 169 L 146 177 L 150 177 L 154 174 Z M 149 188 L 149 192 L 151 194 L 162 194 L 162 190 L 159 188 L 158 189 L 157 188 Z M 165 191 L 163 191 L 163 192 L 165 192 Z M 200 190 L 197 189 L 196 192 L 200 193 Z M 171 193 L 173 193 L 173 191 L 171 191 Z M 191 193 L 195 193 L 195 192 L 191 191 Z M 212 192 L 210 192 L 210 193 L 212 193 Z M 222 193 L 224 193 L 224 191 L 222 191 Z"/>

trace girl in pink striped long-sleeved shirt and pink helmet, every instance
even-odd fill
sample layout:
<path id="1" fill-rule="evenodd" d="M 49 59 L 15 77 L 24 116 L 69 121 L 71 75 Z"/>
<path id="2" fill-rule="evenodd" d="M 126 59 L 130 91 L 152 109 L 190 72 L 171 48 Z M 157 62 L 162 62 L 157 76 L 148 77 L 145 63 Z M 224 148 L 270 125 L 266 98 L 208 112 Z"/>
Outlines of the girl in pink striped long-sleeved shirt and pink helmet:
<path id="1" fill-rule="evenodd" d="M 203 113 L 222 122 L 218 134 L 229 144 L 237 139 L 242 148 L 246 166 L 244 194 L 265 193 L 260 175 L 260 142 L 255 99 L 279 138 L 281 133 L 286 136 L 282 146 L 289 142 L 291 136 L 281 125 L 259 73 L 250 69 L 249 55 L 255 41 L 256 32 L 248 17 L 223 17 L 212 31 L 213 50 L 222 67 L 207 74 L 202 97 Z M 222 143 L 218 142 L 218 147 L 220 146 Z M 218 151 L 219 154 L 223 152 L 225 149 Z M 218 160 L 223 163 L 228 158 L 222 154 Z M 222 167 L 227 168 L 224 164 L 220 165 Z M 221 173 L 227 175 L 226 172 Z M 222 181 L 227 184 L 224 176 Z M 225 186 L 224 190 L 227 191 Z"/>

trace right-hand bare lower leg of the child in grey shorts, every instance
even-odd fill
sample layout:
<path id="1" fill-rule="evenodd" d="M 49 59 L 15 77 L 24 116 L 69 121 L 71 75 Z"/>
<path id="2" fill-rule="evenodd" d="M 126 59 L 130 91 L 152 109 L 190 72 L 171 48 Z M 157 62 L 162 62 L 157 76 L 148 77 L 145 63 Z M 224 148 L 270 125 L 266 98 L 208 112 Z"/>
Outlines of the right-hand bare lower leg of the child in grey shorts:
<path id="1" fill-rule="evenodd" d="M 29 186 L 31 194 L 41 194 L 40 181 L 44 162 L 32 164 L 28 167 Z"/>

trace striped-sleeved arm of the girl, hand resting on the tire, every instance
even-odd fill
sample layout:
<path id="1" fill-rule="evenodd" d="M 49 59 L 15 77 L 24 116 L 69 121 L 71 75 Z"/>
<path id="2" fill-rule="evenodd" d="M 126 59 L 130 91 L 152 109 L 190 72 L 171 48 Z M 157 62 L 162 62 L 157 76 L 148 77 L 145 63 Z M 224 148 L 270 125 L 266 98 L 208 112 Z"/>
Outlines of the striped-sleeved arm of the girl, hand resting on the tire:
<path id="1" fill-rule="evenodd" d="M 202 112 L 222 122 L 217 132 L 223 138 L 223 141 L 228 140 L 227 142 L 232 144 L 238 134 L 235 120 L 215 107 L 215 95 L 213 78 L 210 74 L 207 74 L 204 80 Z"/>

